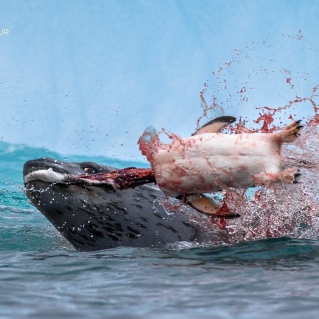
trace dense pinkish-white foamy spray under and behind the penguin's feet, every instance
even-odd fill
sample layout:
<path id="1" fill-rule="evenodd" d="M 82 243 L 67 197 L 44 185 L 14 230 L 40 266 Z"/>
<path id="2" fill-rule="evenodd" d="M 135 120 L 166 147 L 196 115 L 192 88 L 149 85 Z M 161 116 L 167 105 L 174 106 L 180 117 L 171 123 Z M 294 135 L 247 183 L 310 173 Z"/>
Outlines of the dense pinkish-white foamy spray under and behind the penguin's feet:
<path id="1" fill-rule="evenodd" d="M 252 200 L 237 203 L 243 217 L 227 221 L 232 241 L 267 237 L 319 237 L 319 129 L 310 124 L 282 155 L 299 163 L 302 179 L 297 185 L 273 184 L 256 190 Z"/>

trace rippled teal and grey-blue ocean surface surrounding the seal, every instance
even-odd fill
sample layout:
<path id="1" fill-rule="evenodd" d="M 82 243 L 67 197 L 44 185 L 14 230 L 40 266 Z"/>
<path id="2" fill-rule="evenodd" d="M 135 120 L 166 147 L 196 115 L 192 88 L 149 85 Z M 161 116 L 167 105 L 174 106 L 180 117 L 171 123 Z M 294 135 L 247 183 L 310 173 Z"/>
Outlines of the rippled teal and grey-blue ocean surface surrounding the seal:
<path id="1" fill-rule="evenodd" d="M 43 156 L 64 159 L 0 142 L 0 319 L 318 318 L 314 234 L 175 251 L 76 252 L 23 193 L 23 163 Z"/>

